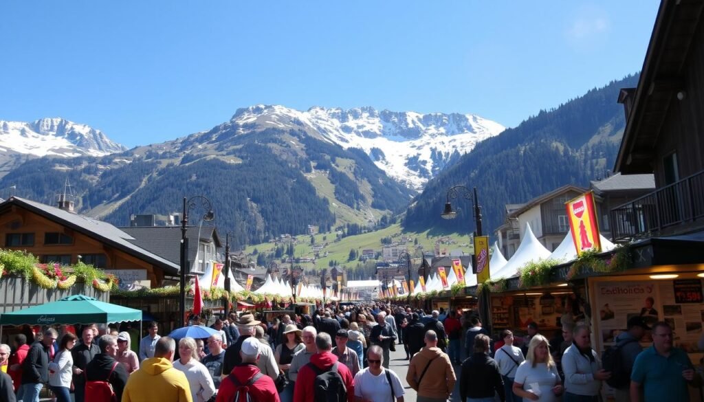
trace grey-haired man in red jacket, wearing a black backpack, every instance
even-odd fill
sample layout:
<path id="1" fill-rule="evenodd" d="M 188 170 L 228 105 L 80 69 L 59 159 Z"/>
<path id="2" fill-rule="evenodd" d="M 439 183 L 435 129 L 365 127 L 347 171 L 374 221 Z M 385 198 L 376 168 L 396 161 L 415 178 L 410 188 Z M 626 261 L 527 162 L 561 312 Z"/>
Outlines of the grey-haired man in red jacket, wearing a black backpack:
<path id="1" fill-rule="evenodd" d="M 332 365 L 337 363 L 337 356 L 332 354 L 332 339 L 326 332 L 321 332 L 315 337 L 315 346 L 318 347 L 318 353 L 310 356 L 310 363 L 320 370 L 329 370 Z M 337 365 L 337 372 L 347 389 L 347 401 L 354 402 L 354 378 L 350 370 L 344 364 Z M 294 389 L 294 401 L 313 401 L 315 390 L 313 389 L 315 382 L 315 371 L 308 365 L 304 365 L 301 370 L 298 370 L 296 378 L 296 388 Z"/>

